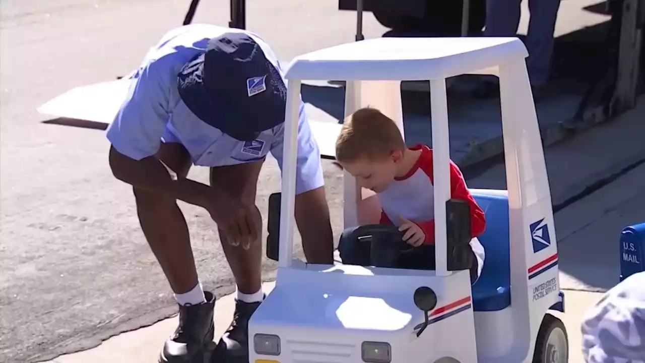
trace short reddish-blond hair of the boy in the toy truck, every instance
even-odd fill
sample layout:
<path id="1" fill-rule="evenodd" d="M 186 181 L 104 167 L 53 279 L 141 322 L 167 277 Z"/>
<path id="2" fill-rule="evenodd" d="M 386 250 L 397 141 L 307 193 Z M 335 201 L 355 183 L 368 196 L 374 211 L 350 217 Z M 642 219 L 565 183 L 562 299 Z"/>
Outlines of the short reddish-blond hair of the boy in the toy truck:
<path id="1" fill-rule="evenodd" d="M 405 147 L 396 123 L 381 111 L 365 107 L 345 119 L 336 140 L 336 160 L 382 160 Z"/>

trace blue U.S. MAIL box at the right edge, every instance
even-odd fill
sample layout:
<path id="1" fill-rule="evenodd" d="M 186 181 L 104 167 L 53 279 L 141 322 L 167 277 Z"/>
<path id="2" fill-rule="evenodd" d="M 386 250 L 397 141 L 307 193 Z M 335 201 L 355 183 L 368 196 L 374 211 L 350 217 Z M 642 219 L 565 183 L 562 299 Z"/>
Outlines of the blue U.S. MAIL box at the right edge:
<path id="1" fill-rule="evenodd" d="M 645 271 L 645 223 L 620 232 L 620 281 Z"/>

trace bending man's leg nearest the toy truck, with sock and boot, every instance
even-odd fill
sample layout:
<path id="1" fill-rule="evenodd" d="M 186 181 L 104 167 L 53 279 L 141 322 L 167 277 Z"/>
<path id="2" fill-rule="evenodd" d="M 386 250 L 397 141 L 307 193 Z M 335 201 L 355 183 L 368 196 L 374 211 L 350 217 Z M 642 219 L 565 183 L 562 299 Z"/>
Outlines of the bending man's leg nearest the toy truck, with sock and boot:
<path id="1" fill-rule="evenodd" d="M 210 169 L 210 183 L 233 198 L 255 203 L 257 180 L 264 160 Z M 248 249 L 228 243 L 219 231 L 226 260 L 237 284 L 237 301 L 231 326 L 217 345 L 217 353 L 231 362 L 248 362 L 248 320 L 263 300 L 261 291 L 262 244 L 255 241 Z"/>

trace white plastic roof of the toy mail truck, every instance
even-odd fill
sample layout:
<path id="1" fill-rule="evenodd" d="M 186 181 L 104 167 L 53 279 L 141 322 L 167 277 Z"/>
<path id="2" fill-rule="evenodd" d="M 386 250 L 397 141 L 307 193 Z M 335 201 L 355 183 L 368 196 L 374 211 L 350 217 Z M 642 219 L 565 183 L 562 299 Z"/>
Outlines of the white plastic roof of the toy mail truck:
<path id="1" fill-rule="evenodd" d="M 528 56 L 516 37 L 379 38 L 293 59 L 287 79 L 424 80 L 466 74 Z"/>

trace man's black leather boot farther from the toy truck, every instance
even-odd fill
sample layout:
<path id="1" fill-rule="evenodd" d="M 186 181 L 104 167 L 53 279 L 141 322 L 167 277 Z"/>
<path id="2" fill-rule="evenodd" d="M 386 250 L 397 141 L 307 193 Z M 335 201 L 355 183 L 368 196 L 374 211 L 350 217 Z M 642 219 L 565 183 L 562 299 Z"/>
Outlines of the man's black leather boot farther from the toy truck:
<path id="1" fill-rule="evenodd" d="M 179 326 L 166 340 L 159 363 L 203 363 L 208 344 L 213 341 L 215 296 L 204 291 L 206 302 L 179 306 Z"/>

